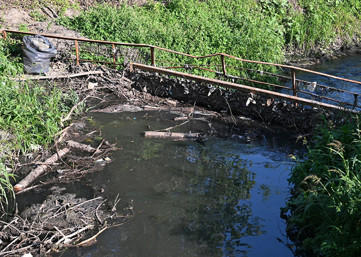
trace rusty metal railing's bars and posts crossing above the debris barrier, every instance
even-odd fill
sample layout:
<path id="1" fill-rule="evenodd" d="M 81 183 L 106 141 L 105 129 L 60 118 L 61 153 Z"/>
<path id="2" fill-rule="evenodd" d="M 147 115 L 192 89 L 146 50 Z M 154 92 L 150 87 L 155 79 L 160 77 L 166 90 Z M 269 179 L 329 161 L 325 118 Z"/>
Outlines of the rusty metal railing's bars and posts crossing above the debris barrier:
<path id="1" fill-rule="evenodd" d="M 37 35 L 39 33 L 32 33 L 32 32 L 24 32 L 24 31 L 16 31 L 16 30 L 8 30 L 8 29 L 3 29 L 0 31 L 0 33 L 2 33 L 2 37 L 5 39 L 7 37 L 7 33 L 15 33 L 15 34 L 24 34 L 24 35 Z M 301 103 L 301 104 L 305 104 L 305 105 L 309 105 L 309 106 L 314 106 L 314 107 L 320 107 L 320 108 L 326 108 L 326 109 L 330 109 L 330 108 L 353 108 L 353 109 L 357 109 L 357 108 L 361 108 L 361 105 L 358 104 L 358 99 L 361 97 L 361 94 L 357 93 L 357 92 L 350 92 L 347 90 L 342 90 L 342 89 L 337 89 L 337 88 L 332 88 L 329 86 L 325 86 L 325 85 L 320 85 L 317 84 L 317 86 L 322 88 L 322 91 L 325 90 L 329 90 L 329 91 L 337 91 L 337 92 L 342 92 L 342 93 L 346 93 L 346 94 L 350 94 L 351 96 L 353 96 L 354 101 L 353 103 L 350 102 L 344 102 L 344 101 L 340 101 L 340 100 L 336 100 L 336 99 L 332 99 L 329 97 L 325 97 L 322 95 L 317 95 L 314 93 L 310 93 L 310 92 L 306 92 L 303 90 L 300 90 L 299 86 L 301 83 L 303 84 L 312 84 L 311 82 L 307 82 L 307 81 L 303 81 L 300 79 L 296 78 L 296 71 L 298 72 L 307 72 L 307 73 L 311 73 L 311 74 L 315 74 L 315 75 L 320 75 L 320 76 L 324 76 L 324 77 L 329 77 L 329 78 L 333 78 L 333 79 L 337 79 L 340 81 L 346 81 L 346 82 L 350 82 L 350 83 L 355 83 L 355 84 L 359 84 L 361 85 L 360 81 L 356 81 L 356 80 L 351 80 L 351 79 L 347 79 L 347 78 L 342 78 L 342 77 L 336 77 L 336 76 L 332 76 L 332 75 L 328 75 L 328 74 L 324 74 L 324 73 L 320 73 L 320 72 L 315 72 L 315 71 L 311 71 L 311 70 L 307 70 L 307 69 L 303 69 L 300 67 L 294 67 L 294 66 L 289 66 L 289 65 L 284 65 L 284 64 L 275 64 L 275 63 L 268 63 L 268 62 L 261 62 L 261 61 L 252 61 L 252 60 L 246 60 L 246 59 L 242 59 L 236 56 L 232 56 L 226 53 L 214 53 L 214 54 L 209 54 L 209 55 L 202 55 L 202 56 L 195 56 L 195 55 L 191 55 L 191 54 L 187 54 L 187 53 L 182 53 L 179 51 L 173 51 L 173 50 L 169 50 L 169 49 L 165 49 L 165 48 L 161 48 L 161 47 L 157 47 L 157 46 L 153 46 L 153 45 L 148 45 L 148 44 L 132 44 L 132 43 L 119 43 L 119 42 L 111 42 L 111 41 L 100 41 L 100 40 L 91 40 L 91 39 L 84 39 L 84 38 L 72 38 L 72 37 L 64 37 L 64 36 L 55 36 L 55 35 L 47 35 L 47 34 L 40 34 L 42 36 L 48 37 L 48 38 L 55 38 L 55 39 L 59 39 L 59 40 L 65 40 L 65 41 L 71 41 L 74 42 L 74 48 L 75 48 L 75 57 L 65 57 L 66 59 L 71 59 L 76 61 L 76 64 L 79 65 L 79 63 L 82 61 L 86 61 L 86 62 L 95 62 L 95 63 L 105 63 L 105 64 L 109 64 L 112 65 L 114 68 L 118 65 L 124 65 L 123 63 L 119 63 L 117 62 L 117 56 L 116 56 L 116 47 L 126 47 L 126 48 L 136 48 L 136 49 L 149 49 L 148 50 L 148 55 L 150 56 L 150 58 L 146 57 L 147 53 L 143 52 L 142 54 L 140 54 L 140 60 L 136 60 L 136 62 L 138 63 L 142 63 L 144 64 L 144 62 L 150 62 L 150 66 L 152 67 L 156 67 L 156 61 L 158 62 L 164 62 L 167 63 L 166 60 L 158 60 L 155 58 L 155 50 L 159 50 L 159 51 L 165 51 L 165 52 L 169 52 L 169 53 L 173 53 L 173 54 L 178 54 L 178 55 L 182 55 L 182 56 L 186 56 L 186 57 L 190 57 L 193 59 L 203 59 L 203 58 L 210 58 L 210 57 L 216 57 L 219 56 L 220 58 L 220 65 L 215 65 L 216 67 L 220 67 L 221 68 L 221 72 L 220 71 L 216 71 L 216 70 L 211 70 L 211 69 L 207 69 L 204 67 L 200 67 L 202 65 L 191 65 L 191 64 L 181 64 L 178 66 L 171 66 L 171 67 L 162 67 L 163 69 L 158 70 L 158 69 L 154 69 L 158 70 L 158 71 L 163 71 L 164 69 L 185 69 L 185 70 L 191 70 L 191 69 L 199 69 L 199 70 L 204 70 L 204 71 L 208 71 L 211 73 L 214 73 L 215 75 L 217 75 L 218 77 L 221 77 L 223 79 L 232 79 L 232 80 L 243 80 L 243 81 L 248 81 L 248 82 L 253 82 L 253 83 L 259 83 L 259 84 L 264 84 L 264 85 L 270 85 L 272 87 L 275 88 L 279 88 L 280 90 L 288 90 L 288 91 L 292 91 L 292 95 L 289 94 L 283 94 L 283 93 L 278 93 L 278 92 L 273 92 L 273 91 L 269 91 L 271 95 L 269 95 L 269 93 L 267 93 L 267 96 L 269 97 L 273 97 L 273 98 L 278 98 L 278 99 L 284 99 L 286 101 L 291 101 L 294 103 Z M 80 43 L 83 44 L 97 44 L 97 45 L 105 45 L 105 46 L 109 46 L 109 49 L 112 50 L 112 54 L 111 54 L 111 60 L 110 61 L 104 61 L 104 60 L 90 60 L 90 59 L 85 59 L 85 58 L 81 58 L 80 57 L 80 49 L 81 47 L 79 46 Z M 84 47 L 84 46 L 83 46 Z M 226 65 L 226 60 L 225 57 L 227 58 L 231 58 L 234 60 L 238 60 L 244 63 L 253 63 L 253 64 L 261 64 L 261 65 L 271 65 L 271 66 L 276 66 L 280 69 L 287 69 L 290 71 L 291 77 L 287 77 L 287 76 L 280 76 L 278 74 L 270 74 L 270 73 L 266 73 L 260 70 L 252 70 L 252 69 L 247 69 L 247 68 L 243 68 L 243 67 L 236 67 L 236 66 L 231 66 L 231 65 Z M 146 60 L 146 59 L 150 59 L 150 60 Z M 133 59 L 130 59 L 128 61 L 128 63 L 133 62 Z M 169 62 L 170 63 L 170 62 Z M 149 68 L 146 68 L 147 65 L 141 65 L 141 66 L 137 66 L 136 68 L 138 69 L 145 69 L 145 70 L 150 70 Z M 277 85 L 277 84 L 272 84 L 272 83 L 268 83 L 268 82 L 262 82 L 262 81 L 257 81 L 257 80 L 253 80 L 253 79 L 249 79 L 249 78 L 244 78 L 244 77 L 238 77 L 238 76 L 232 76 L 230 74 L 227 73 L 227 68 L 233 68 L 233 69 L 246 69 L 246 70 L 251 70 L 255 73 L 260 73 L 261 75 L 263 74 L 269 74 L 271 76 L 277 76 L 277 77 L 283 77 L 286 79 L 291 79 L 291 84 L 292 87 L 287 87 L 287 86 L 282 86 L 282 85 Z M 162 73 L 162 72 L 161 72 Z M 165 73 L 165 72 L 164 72 Z M 168 72 L 166 74 L 169 74 Z M 180 75 L 181 74 L 181 75 Z M 182 77 L 188 77 L 189 79 L 192 79 L 193 76 L 191 76 L 190 74 L 188 74 L 187 76 L 185 76 L 186 73 L 180 73 L 178 74 L 179 76 Z M 174 76 L 177 76 L 177 72 L 174 71 Z M 194 79 L 194 77 L 193 77 Z M 198 79 L 198 78 L 197 78 Z M 199 80 L 199 79 L 198 79 Z M 222 80 L 219 80 L 222 81 Z M 225 82 L 225 81 L 223 81 Z M 208 83 L 215 83 L 212 80 L 209 80 Z M 217 82 L 217 85 L 220 86 L 226 86 L 225 84 L 222 84 L 222 82 Z M 234 83 L 237 84 L 237 83 Z M 237 90 L 245 90 L 242 87 L 231 87 Z M 257 94 L 257 89 L 255 89 L 256 91 L 252 91 L 253 93 Z M 303 101 L 301 99 L 304 98 L 299 98 L 298 97 L 298 93 L 303 93 L 306 95 L 309 95 L 310 97 L 316 98 L 316 99 L 320 99 L 320 100 L 326 100 L 326 101 L 332 101 L 336 104 L 339 105 L 343 105 L 342 107 L 339 107 L 337 105 L 334 104 L 326 104 L 326 103 L 321 103 L 318 101 Z M 259 93 L 258 93 L 259 94 Z M 281 96 L 281 95 L 282 96 Z M 261 94 L 261 95 L 265 95 L 265 94 Z M 281 96 L 281 97 L 280 97 Z M 288 96 L 288 97 L 287 97 Z M 292 96 L 292 97 L 291 97 Z M 313 102 L 317 102 L 317 104 L 314 104 Z M 349 107 L 346 107 L 349 106 Z"/>

